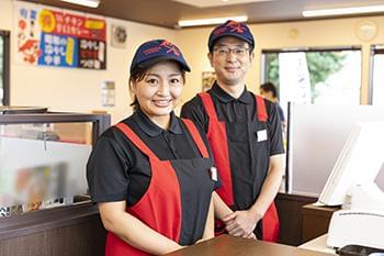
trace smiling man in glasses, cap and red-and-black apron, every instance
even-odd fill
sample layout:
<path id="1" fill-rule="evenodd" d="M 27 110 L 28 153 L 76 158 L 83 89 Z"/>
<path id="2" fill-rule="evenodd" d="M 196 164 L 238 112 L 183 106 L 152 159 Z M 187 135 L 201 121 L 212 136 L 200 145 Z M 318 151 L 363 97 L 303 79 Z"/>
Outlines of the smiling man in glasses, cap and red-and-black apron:
<path id="1" fill-rule="evenodd" d="M 284 148 L 276 105 L 245 85 L 255 57 L 253 36 L 246 24 L 227 21 L 212 31 L 208 48 L 216 81 L 187 102 L 181 115 L 207 134 L 222 182 L 215 215 L 230 235 L 276 241 L 273 199 Z"/>

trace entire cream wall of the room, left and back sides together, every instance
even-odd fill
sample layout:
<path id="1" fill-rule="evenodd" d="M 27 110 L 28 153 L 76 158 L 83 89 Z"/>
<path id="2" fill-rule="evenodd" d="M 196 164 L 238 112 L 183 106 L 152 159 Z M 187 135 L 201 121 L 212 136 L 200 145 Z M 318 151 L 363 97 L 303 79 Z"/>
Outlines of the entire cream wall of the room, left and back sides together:
<path id="1" fill-rule="evenodd" d="M 13 4 L 11 0 L 0 0 L 0 30 L 13 32 Z M 14 47 L 11 42 L 11 103 L 14 105 L 44 105 L 52 110 L 91 111 L 106 110 L 116 122 L 131 113 L 127 87 L 128 66 L 136 47 L 146 40 L 168 38 L 177 43 L 184 53 L 192 73 L 187 75 L 183 101 L 201 90 L 202 71 L 211 70 L 206 57 L 207 37 L 212 27 L 168 30 L 158 26 L 106 18 L 108 24 L 127 26 L 128 46 L 113 48 L 108 43 L 108 69 L 84 70 L 74 68 L 30 67 L 14 64 Z M 355 35 L 361 21 L 372 21 L 377 25 L 377 35 L 371 42 L 362 42 Z M 362 93 L 363 103 L 369 92 L 369 54 L 371 44 L 384 44 L 383 15 L 307 22 L 284 22 L 250 25 L 256 41 L 256 58 L 252 70 L 247 76 L 247 86 L 256 91 L 260 84 L 260 55 L 262 48 L 300 46 L 348 46 L 362 47 Z M 108 40 L 110 38 L 108 29 Z M 14 34 L 14 33 L 13 33 Z M 101 104 L 101 84 L 114 80 L 116 101 L 114 108 Z"/>

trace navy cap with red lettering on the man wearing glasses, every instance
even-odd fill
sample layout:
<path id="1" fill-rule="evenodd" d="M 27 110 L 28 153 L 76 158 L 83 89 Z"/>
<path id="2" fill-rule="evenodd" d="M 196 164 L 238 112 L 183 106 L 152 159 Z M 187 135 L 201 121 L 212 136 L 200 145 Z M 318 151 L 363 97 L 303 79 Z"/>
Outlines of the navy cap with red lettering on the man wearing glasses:
<path id="1" fill-rule="evenodd" d="M 210 52 L 212 52 L 215 42 L 223 36 L 235 36 L 247 42 L 252 48 L 255 48 L 253 35 L 249 27 L 245 23 L 228 20 L 224 24 L 213 29 L 211 32 L 208 40 Z"/>

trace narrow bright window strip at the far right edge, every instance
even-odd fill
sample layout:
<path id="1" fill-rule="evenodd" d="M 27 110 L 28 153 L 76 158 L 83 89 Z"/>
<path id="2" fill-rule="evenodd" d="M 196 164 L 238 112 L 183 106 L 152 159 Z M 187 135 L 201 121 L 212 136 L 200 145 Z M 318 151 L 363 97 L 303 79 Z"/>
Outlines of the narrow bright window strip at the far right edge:
<path id="1" fill-rule="evenodd" d="M 371 73 L 371 103 L 374 105 L 384 104 L 384 45 L 372 46 L 372 73 Z"/>

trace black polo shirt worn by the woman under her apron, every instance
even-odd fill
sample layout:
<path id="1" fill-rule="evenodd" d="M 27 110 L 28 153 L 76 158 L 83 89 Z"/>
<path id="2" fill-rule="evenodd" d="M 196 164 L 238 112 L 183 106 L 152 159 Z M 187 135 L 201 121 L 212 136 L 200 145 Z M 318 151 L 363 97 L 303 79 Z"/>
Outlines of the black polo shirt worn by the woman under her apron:
<path id="1" fill-rule="evenodd" d="M 201 154 L 184 123 L 171 113 L 163 130 L 140 110 L 123 121 L 160 160 L 200 158 Z M 207 144 L 205 134 L 201 134 Z M 207 146 L 210 152 L 210 147 Z M 210 155 L 211 152 L 210 152 Z M 150 181 L 149 159 L 118 129 L 112 126 L 97 141 L 87 164 L 87 179 L 93 202 L 137 202 Z"/>

